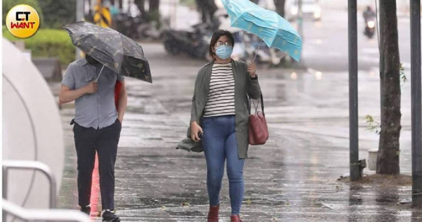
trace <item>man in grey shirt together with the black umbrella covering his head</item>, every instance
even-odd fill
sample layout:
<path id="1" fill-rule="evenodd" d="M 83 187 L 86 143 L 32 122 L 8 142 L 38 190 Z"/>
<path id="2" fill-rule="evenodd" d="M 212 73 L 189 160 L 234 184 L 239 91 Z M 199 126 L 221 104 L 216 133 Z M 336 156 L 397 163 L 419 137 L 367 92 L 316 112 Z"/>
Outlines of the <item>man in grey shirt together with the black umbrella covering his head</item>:
<path id="1" fill-rule="evenodd" d="M 114 214 L 114 165 L 127 106 L 123 76 L 152 83 L 142 47 L 111 29 L 87 22 L 63 26 L 85 57 L 69 64 L 60 103 L 75 101 L 73 132 L 78 158 L 78 194 L 81 211 L 90 214 L 95 153 L 98 156 L 103 221 L 120 222 Z"/>

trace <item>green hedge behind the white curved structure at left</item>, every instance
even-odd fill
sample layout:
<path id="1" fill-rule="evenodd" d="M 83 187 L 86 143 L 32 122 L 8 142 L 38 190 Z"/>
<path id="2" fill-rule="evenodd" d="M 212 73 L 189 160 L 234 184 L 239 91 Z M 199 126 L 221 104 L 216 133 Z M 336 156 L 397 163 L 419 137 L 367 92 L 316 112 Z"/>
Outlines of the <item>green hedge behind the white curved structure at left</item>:
<path id="1" fill-rule="evenodd" d="M 25 48 L 31 50 L 32 57 L 59 57 L 64 67 L 75 60 L 75 46 L 65 30 L 40 28 L 25 39 L 14 37 L 4 26 L 2 32 L 3 37 L 10 41 L 24 41 Z"/>

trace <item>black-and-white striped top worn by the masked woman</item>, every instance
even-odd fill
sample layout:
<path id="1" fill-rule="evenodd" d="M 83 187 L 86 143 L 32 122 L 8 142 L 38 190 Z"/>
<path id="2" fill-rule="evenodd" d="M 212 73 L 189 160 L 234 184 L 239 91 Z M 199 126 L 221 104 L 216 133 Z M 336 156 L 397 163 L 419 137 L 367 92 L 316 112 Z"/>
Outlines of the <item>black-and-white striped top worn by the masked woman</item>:
<path id="1" fill-rule="evenodd" d="M 204 117 L 234 114 L 235 80 L 233 78 L 232 63 L 214 63 Z"/>

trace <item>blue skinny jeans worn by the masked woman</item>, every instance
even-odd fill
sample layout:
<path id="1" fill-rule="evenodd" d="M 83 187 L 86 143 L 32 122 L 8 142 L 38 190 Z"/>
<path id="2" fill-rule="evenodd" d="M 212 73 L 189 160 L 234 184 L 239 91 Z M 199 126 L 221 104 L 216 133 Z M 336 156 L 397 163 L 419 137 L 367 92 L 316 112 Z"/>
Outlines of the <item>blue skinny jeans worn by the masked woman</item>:
<path id="1" fill-rule="evenodd" d="M 207 160 L 207 188 L 210 205 L 215 206 L 219 203 L 224 162 L 227 159 L 232 215 L 239 215 L 244 192 L 244 159 L 238 157 L 235 125 L 234 115 L 203 118 L 202 145 Z"/>

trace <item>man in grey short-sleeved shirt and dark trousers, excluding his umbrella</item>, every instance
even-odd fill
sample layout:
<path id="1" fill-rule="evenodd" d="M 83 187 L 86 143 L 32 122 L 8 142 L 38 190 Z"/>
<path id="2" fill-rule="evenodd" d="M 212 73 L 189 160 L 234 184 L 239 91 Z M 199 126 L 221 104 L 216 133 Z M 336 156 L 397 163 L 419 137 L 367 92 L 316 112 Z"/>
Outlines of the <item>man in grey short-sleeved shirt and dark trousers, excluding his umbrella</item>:
<path id="1" fill-rule="evenodd" d="M 109 68 L 98 75 L 102 64 L 90 55 L 69 64 L 65 72 L 60 103 L 75 101 L 73 132 L 78 158 L 78 196 L 81 211 L 90 214 L 90 194 L 95 153 L 98 155 L 103 220 L 118 222 L 114 211 L 114 165 L 127 106 L 124 80 Z M 98 78 L 98 80 L 96 80 Z M 115 84 L 122 84 L 115 104 Z"/>

